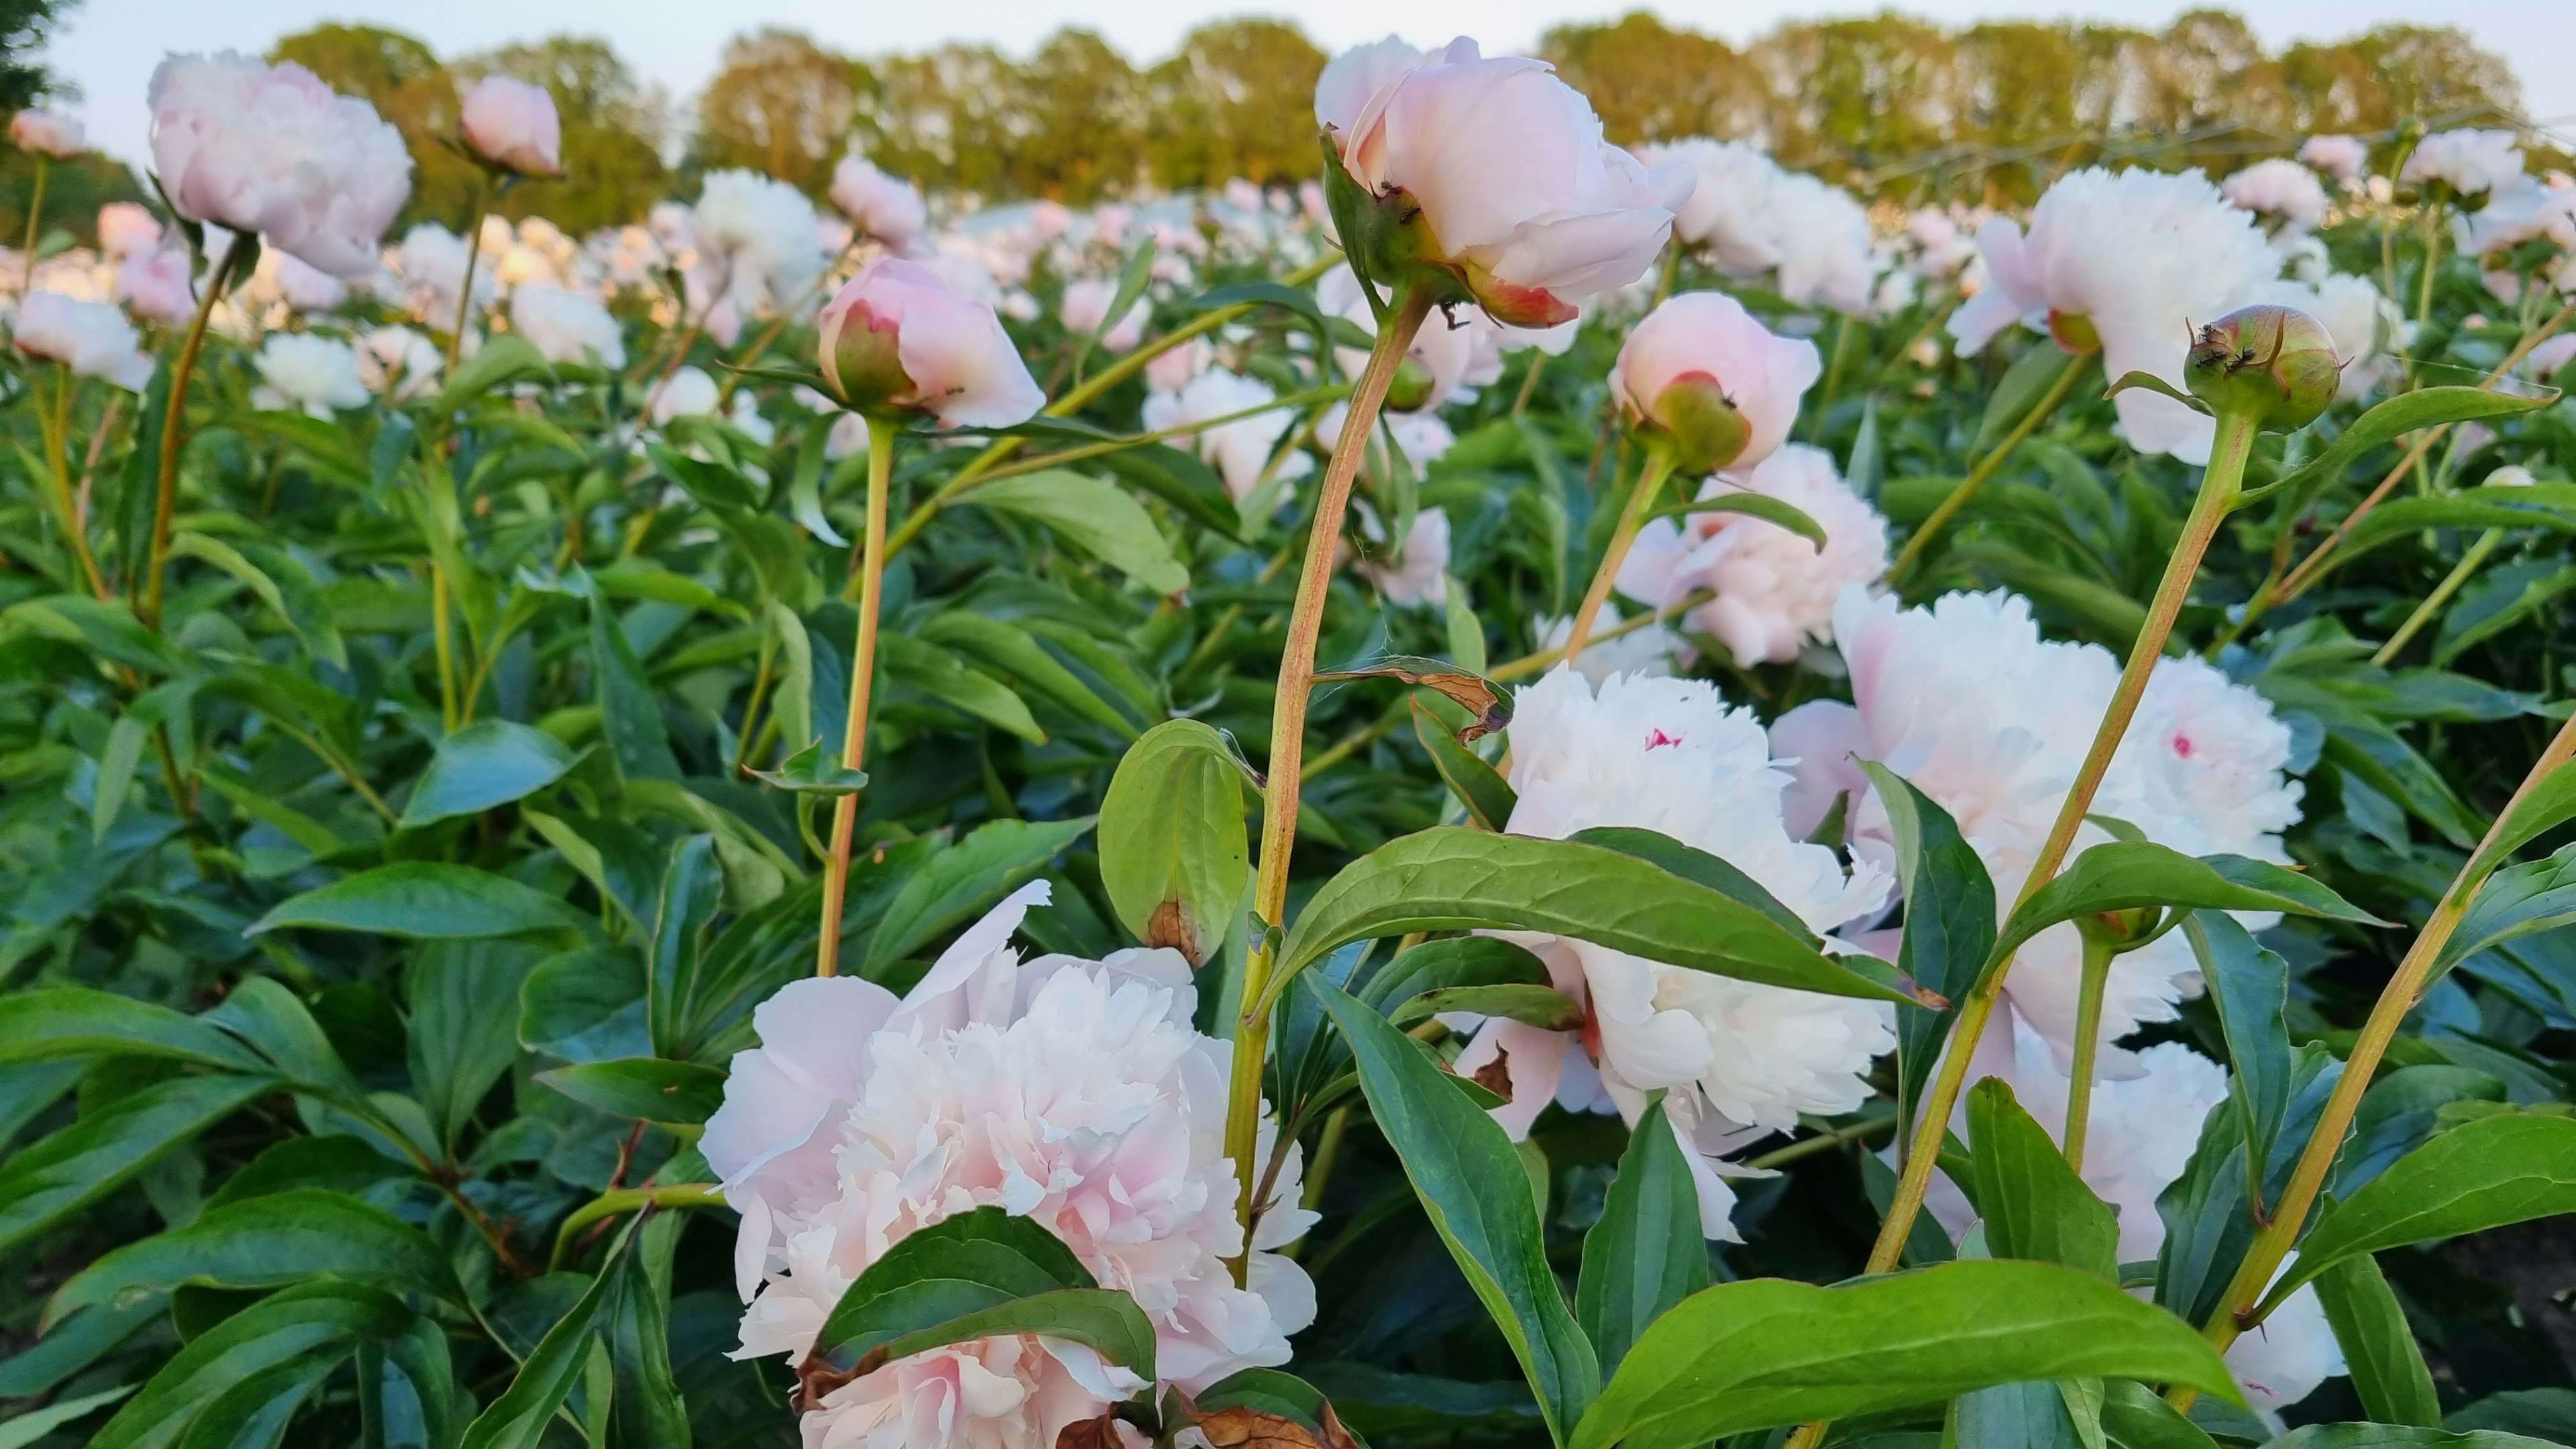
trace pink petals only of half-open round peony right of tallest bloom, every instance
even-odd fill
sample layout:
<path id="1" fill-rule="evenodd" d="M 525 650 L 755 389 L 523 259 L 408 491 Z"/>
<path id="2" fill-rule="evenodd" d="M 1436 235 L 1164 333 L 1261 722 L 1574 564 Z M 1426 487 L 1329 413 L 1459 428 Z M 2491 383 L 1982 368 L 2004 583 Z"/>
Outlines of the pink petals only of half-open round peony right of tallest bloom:
<path id="1" fill-rule="evenodd" d="M 1620 343 L 1610 397 L 1631 418 L 1669 423 L 1667 389 L 1713 384 L 1744 418 L 1744 451 L 1726 467 L 1749 469 L 1788 438 L 1798 400 L 1824 374 L 1816 343 L 1777 338 L 1723 291 L 1685 291 L 1638 322 Z"/>

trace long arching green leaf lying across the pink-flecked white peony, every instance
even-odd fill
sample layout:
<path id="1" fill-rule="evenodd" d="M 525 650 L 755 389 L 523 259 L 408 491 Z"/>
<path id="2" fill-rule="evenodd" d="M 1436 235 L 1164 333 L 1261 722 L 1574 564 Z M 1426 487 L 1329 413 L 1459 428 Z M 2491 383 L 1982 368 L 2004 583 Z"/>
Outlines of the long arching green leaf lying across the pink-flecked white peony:
<path id="1" fill-rule="evenodd" d="M 1548 931 L 1721 977 L 1909 1000 L 1765 910 L 1631 853 L 1450 825 L 1388 841 L 1324 882 L 1288 931 L 1278 980 L 1345 941 L 1406 931 Z"/>

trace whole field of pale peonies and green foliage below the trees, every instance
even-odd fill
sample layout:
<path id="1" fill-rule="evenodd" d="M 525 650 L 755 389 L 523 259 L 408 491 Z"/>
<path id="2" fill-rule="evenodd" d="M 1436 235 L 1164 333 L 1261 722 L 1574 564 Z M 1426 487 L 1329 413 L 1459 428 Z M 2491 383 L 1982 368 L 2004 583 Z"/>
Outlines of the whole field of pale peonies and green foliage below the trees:
<path id="1" fill-rule="evenodd" d="M 0 266 L 0 1446 L 2576 1444 L 2524 137 L 1909 214 L 1391 39 L 1293 191 L 459 237 L 144 103 Z"/>

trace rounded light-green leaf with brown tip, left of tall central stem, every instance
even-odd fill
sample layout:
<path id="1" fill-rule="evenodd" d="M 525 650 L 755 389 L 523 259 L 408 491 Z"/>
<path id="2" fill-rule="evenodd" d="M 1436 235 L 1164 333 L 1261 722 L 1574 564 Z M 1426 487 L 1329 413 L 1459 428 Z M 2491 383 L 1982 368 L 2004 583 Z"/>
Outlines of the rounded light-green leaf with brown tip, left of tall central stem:
<path id="1" fill-rule="evenodd" d="M 1198 719 L 1146 730 L 1100 802 L 1100 887 L 1118 923 L 1200 967 L 1249 879 L 1244 771 L 1226 737 Z"/>

